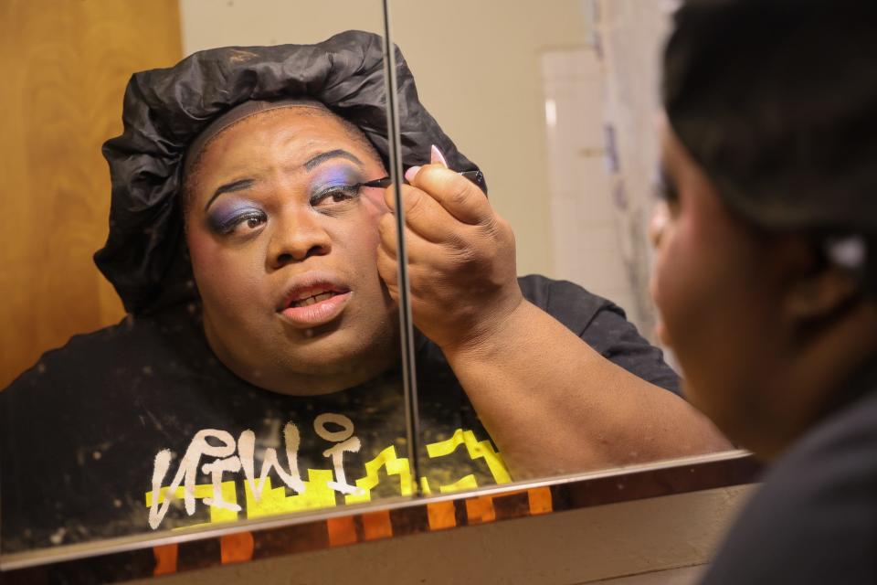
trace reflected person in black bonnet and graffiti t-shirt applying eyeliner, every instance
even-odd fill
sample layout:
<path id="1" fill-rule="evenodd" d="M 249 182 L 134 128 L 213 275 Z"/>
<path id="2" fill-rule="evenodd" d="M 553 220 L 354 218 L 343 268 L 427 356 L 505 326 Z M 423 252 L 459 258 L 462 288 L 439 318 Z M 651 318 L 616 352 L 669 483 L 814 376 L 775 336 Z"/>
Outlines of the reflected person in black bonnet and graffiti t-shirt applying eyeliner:
<path id="1" fill-rule="evenodd" d="M 400 58 L 411 477 L 391 199 L 361 186 L 387 174 L 381 57 L 348 32 L 132 78 L 95 257 L 130 315 L 0 394 L 6 551 L 726 446 L 618 307 L 516 278 L 511 229 Z"/>

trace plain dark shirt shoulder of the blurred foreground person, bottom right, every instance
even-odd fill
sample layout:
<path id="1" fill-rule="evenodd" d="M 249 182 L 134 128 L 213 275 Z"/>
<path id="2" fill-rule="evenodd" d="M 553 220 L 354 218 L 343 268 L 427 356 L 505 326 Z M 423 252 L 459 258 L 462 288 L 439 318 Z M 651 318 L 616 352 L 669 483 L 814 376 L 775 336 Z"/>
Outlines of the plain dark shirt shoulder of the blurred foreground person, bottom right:
<path id="1" fill-rule="evenodd" d="M 877 583 L 877 364 L 767 473 L 704 585 Z"/>

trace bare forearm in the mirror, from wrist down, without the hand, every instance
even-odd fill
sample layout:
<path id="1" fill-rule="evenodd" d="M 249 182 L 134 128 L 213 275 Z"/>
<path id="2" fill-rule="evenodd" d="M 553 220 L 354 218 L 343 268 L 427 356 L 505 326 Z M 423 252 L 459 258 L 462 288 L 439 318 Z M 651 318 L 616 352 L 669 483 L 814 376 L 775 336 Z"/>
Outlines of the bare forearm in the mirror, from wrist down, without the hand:
<path id="1" fill-rule="evenodd" d="M 684 400 L 531 303 L 491 335 L 443 350 L 515 479 L 730 448 Z"/>

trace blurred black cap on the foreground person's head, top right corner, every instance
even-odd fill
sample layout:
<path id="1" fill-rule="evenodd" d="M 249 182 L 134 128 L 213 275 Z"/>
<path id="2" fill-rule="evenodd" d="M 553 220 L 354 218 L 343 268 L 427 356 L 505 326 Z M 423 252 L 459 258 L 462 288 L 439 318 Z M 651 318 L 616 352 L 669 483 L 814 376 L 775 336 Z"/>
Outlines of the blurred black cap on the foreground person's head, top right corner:
<path id="1" fill-rule="evenodd" d="M 693 0 L 664 62 L 672 130 L 726 207 L 768 231 L 840 241 L 829 256 L 861 260 L 851 267 L 871 293 L 875 73 L 872 0 Z"/>

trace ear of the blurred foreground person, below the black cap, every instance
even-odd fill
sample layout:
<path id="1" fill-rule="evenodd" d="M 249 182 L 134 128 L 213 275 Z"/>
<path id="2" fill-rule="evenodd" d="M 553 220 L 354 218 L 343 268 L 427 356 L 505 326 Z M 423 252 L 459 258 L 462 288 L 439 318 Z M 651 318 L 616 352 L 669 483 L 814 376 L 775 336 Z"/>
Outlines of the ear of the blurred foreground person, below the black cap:
<path id="1" fill-rule="evenodd" d="M 811 243 L 790 239 L 781 254 L 789 262 L 783 313 L 792 322 L 804 324 L 836 314 L 858 296 L 859 282 L 849 272 L 821 261 Z"/>

